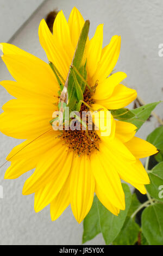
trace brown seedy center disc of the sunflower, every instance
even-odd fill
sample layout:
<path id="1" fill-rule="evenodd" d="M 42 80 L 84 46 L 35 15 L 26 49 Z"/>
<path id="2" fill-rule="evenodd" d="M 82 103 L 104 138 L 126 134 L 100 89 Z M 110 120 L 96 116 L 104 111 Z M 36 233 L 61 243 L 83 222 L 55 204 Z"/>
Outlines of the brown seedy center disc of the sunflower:
<path id="1" fill-rule="evenodd" d="M 91 93 L 89 90 L 86 89 L 83 96 L 87 105 L 90 106 L 92 103 L 94 103 L 91 99 Z M 83 111 L 89 110 L 90 109 L 87 106 L 82 104 L 80 109 L 80 117 L 82 118 Z M 79 156 L 83 154 L 91 155 L 93 151 L 99 149 L 100 138 L 96 131 L 93 129 L 84 131 L 82 130 L 82 124 L 81 130 L 63 130 L 60 138 L 65 141 L 65 144 L 68 146 L 69 150 L 75 151 Z"/>

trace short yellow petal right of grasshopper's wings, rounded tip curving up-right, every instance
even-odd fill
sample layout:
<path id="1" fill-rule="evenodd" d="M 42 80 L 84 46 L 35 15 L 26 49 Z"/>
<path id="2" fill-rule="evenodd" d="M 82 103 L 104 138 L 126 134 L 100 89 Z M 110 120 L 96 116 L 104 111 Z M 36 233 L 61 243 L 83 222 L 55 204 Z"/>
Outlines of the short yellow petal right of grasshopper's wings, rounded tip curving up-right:
<path id="1" fill-rule="evenodd" d="M 106 78 L 102 83 L 99 83 L 96 87 L 95 94 L 92 95 L 93 99 L 104 100 L 108 99 L 114 92 L 117 84 L 122 82 L 127 75 L 124 72 L 116 72 L 108 78 Z"/>

